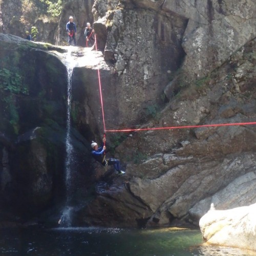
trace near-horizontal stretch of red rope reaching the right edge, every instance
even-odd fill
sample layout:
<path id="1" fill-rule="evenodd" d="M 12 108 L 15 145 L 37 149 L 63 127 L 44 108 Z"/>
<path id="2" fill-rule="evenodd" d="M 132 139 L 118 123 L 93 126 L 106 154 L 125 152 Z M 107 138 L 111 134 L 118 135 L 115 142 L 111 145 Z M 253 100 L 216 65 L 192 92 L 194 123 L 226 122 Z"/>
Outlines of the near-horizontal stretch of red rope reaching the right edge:
<path id="1" fill-rule="evenodd" d="M 219 123 L 219 124 L 184 125 L 184 126 L 155 127 L 155 128 L 141 128 L 141 129 L 105 130 L 105 132 L 137 132 L 137 131 L 154 131 L 154 130 L 171 130 L 171 129 L 189 129 L 189 128 L 199 128 L 199 127 L 218 127 L 218 126 L 232 126 L 232 125 L 251 125 L 251 124 L 256 124 L 256 122 L 245 122 L 245 123 Z"/>

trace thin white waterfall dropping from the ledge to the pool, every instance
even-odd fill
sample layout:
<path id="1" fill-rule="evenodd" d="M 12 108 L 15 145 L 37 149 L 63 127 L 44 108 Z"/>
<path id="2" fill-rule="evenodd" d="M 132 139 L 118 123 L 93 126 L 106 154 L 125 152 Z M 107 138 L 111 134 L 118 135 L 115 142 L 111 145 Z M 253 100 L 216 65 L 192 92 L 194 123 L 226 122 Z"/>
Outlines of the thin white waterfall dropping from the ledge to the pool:
<path id="1" fill-rule="evenodd" d="M 72 195 L 72 166 L 73 166 L 73 145 L 71 143 L 71 98 L 72 98 L 72 75 L 74 68 L 74 59 L 71 55 L 72 48 L 70 47 L 67 58 L 66 67 L 68 73 L 67 86 L 67 132 L 66 132 L 66 162 L 65 162 L 65 185 L 66 185 L 66 205 L 62 211 L 59 224 L 63 227 L 70 227 L 72 225 L 72 210 L 71 195 Z"/>

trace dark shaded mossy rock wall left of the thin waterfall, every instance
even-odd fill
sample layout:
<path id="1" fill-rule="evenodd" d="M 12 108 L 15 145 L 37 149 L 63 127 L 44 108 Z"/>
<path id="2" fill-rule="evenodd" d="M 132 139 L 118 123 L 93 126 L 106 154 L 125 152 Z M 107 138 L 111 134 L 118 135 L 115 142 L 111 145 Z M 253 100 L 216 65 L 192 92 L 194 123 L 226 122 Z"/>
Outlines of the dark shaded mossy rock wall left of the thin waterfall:
<path id="1" fill-rule="evenodd" d="M 0 45 L 0 204 L 26 219 L 66 200 L 67 50 L 6 34 Z M 70 136 L 75 195 L 90 186 L 91 160 L 75 127 Z"/>

